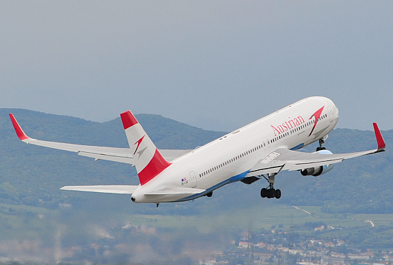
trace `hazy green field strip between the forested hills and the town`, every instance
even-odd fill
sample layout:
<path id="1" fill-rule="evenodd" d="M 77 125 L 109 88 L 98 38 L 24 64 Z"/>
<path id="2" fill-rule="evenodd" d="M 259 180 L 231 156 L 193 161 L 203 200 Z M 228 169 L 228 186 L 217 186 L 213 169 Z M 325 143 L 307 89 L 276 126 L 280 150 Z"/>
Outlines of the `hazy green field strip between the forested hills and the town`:
<path id="1" fill-rule="evenodd" d="M 175 204 L 174 208 L 178 205 Z M 301 227 L 306 222 L 322 222 L 335 233 L 345 233 L 360 227 L 391 226 L 393 214 L 352 214 L 352 213 L 323 213 L 318 206 L 285 206 L 281 204 L 265 203 L 247 209 L 233 209 L 232 211 L 218 211 L 216 215 L 160 215 L 160 214 L 132 214 L 128 211 L 116 211 L 105 207 L 100 212 L 85 209 L 49 210 L 34 206 L 17 206 L 14 204 L 0 204 L 2 237 L 12 234 L 12 237 L 22 233 L 39 235 L 48 231 L 48 223 L 65 223 L 79 226 L 82 223 L 113 223 L 152 226 L 158 229 L 188 229 L 193 228 L 208 233 L 216 229 L 271 229 L 272 226 L 282 225 L 283 231 L 289 231 L 294 224 L 295 229 L 303 231 Z M 130 208 L 132 204 L 130 203 Z M 64 218 L 67 215 L 67 218 Z M 63 222 L 62 222 L 63 221 Z M 10 232 L 10 233 L 7 233 Z M 41 231 L 41 232 L 40 232 Z"/>

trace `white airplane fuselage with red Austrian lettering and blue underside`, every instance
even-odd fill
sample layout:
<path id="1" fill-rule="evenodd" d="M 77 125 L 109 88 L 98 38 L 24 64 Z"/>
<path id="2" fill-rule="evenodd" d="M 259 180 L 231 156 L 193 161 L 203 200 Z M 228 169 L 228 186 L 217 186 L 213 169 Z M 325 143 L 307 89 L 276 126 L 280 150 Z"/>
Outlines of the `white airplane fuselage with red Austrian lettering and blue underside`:
<path id="1" fill-rule="evenodd" d="M 321 117 L 317 123 L 316 117 Z M 339 109 L 332 100 L 321 96 L 305 98 L 171 161 L 172 165 L 140 185 L 132 197 L 134 202 L 154 203 L 201 197 L 225 184 L 242 180 L 274 149 L 299 149 L 323 138 L 332 131 L 338 119 Z M 203 189 L 205 192 L 145 195 L 171 187 Z"/>

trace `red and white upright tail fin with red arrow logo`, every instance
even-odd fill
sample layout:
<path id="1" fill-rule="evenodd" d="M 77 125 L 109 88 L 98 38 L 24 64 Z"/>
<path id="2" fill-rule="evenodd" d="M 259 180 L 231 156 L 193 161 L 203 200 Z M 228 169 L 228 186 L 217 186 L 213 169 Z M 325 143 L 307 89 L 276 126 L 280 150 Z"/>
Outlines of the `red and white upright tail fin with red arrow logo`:
<path id="1" fill-rule="evenodd" d="M 134 165 L 137 168 L 141 185 L 149 182 L 171 165 L 165 160 L 145 130 L 130 111 L 120 114 L 127 136 L 128 145 L 134 154 Z"/>

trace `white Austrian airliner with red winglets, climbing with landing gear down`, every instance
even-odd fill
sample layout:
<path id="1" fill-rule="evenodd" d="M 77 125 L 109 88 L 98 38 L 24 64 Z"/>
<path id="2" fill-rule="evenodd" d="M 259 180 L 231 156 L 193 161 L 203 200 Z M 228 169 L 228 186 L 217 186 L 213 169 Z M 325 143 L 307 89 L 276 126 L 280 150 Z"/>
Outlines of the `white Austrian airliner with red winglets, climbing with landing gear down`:
<path id="1" fill-rule="evenodd" d="M 137 169 L 139 185 L 66 186 L 62 190 L 131 194 L 132 202 L 183 202 L 211 197 L 215 189 L 241 181 L 252 184 L 264 178 L 268 187 L 262 198 L 281 198 L 274 178 L 281 171 L 300 171 L 303 176 L 321 176 L 348 158 L 385 151 L 385 140 L 373 123 L 377 149 L 333 154 L 322 147 L 339 120 L 332 100 L 312 96 L 279 109 L 240 129 L 192 150 L 157 149 L 128 110 L 120 114 L 130 148 L 73 145 L 28 137 L 10 114 L 17 136 L 23 142 L 73 151 L 95 160 L 128 163 Z M 319 141 L 315 152 L 302 149 Z M 297 151 L 296 151 L 297 150 Z"/>

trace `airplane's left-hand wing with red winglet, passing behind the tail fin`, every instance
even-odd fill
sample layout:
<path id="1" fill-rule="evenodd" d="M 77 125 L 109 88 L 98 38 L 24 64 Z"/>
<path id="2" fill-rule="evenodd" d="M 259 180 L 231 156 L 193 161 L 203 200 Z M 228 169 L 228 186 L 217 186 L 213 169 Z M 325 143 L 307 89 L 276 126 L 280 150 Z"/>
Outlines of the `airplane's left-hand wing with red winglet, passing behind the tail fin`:
<path id="1" fill-rule="evenodd" d="M 28 137 L 21 126 L 14 118 L 14 115 L 10 114 L 12 125 L 17 132 L 17 136 L 23 142 L 31 145 L 39 145 L 41 147 L 50 147 L 53 149 L 72 151 L 78 153 L 79 156 L 87 156 L 89 158 L 94 158 L 95 160 L 110 160 L 114 162 L 121 162 L 127 164 L 133 164 L 132 151 L 130 148 L 119 148 L 119 147 L 97 147 L 90 145 L 74 145 L 65 142 L 50 142 L 44 140 L 37 140 Z M 163 157 L 169 161 L 174 160 L 191 150 L 171 150 L 171 149 L 161 149 L 160 152 Z"/>

